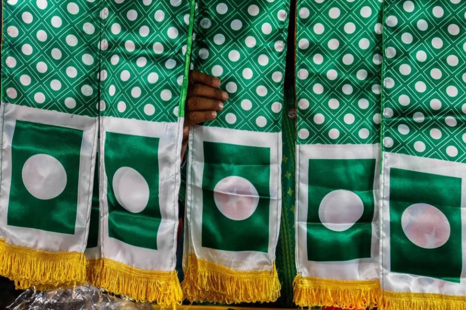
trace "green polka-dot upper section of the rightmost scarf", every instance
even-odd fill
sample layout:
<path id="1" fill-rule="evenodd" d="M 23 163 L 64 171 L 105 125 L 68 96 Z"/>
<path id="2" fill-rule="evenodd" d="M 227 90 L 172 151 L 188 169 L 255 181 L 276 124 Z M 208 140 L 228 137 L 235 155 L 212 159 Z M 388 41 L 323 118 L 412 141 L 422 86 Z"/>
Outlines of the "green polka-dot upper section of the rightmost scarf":
<path id="1" fill-rule="evenodd" d="M 383 149 L 466 162 L 465 4 L 384 5 Z"/>

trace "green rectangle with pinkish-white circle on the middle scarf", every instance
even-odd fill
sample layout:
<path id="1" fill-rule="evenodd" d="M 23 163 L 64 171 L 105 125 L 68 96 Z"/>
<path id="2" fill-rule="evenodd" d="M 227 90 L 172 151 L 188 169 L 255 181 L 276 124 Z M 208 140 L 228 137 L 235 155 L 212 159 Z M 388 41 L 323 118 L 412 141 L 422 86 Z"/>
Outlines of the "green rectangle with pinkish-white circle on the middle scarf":
<path id="1" fill-rule="evenodd" d="M 270 148 L 214 142 L 203 147 L 202 246 L 266 253 Z"/>

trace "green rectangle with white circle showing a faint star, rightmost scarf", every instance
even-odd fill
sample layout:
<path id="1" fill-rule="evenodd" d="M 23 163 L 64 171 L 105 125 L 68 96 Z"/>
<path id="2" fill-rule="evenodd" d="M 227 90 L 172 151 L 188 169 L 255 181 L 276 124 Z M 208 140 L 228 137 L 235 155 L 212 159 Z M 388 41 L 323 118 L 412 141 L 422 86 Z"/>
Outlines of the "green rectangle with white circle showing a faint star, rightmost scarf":
<path id="1" fill-rule="evenodd" d="M 390 269 L 460 282 L 461 179 L 390 169 Z"/>

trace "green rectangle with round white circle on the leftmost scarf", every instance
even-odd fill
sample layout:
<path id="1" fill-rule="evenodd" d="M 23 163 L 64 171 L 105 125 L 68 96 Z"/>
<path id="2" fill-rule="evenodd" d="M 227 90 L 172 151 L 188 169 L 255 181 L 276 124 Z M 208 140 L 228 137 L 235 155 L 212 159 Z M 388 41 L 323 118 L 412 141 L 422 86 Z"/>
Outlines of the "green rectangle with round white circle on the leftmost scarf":
<path id="1" fill-rule="evenodd" d="M 16 121 L 8 225 L 74 234 L 82 141 L 81 130 Z"/>

